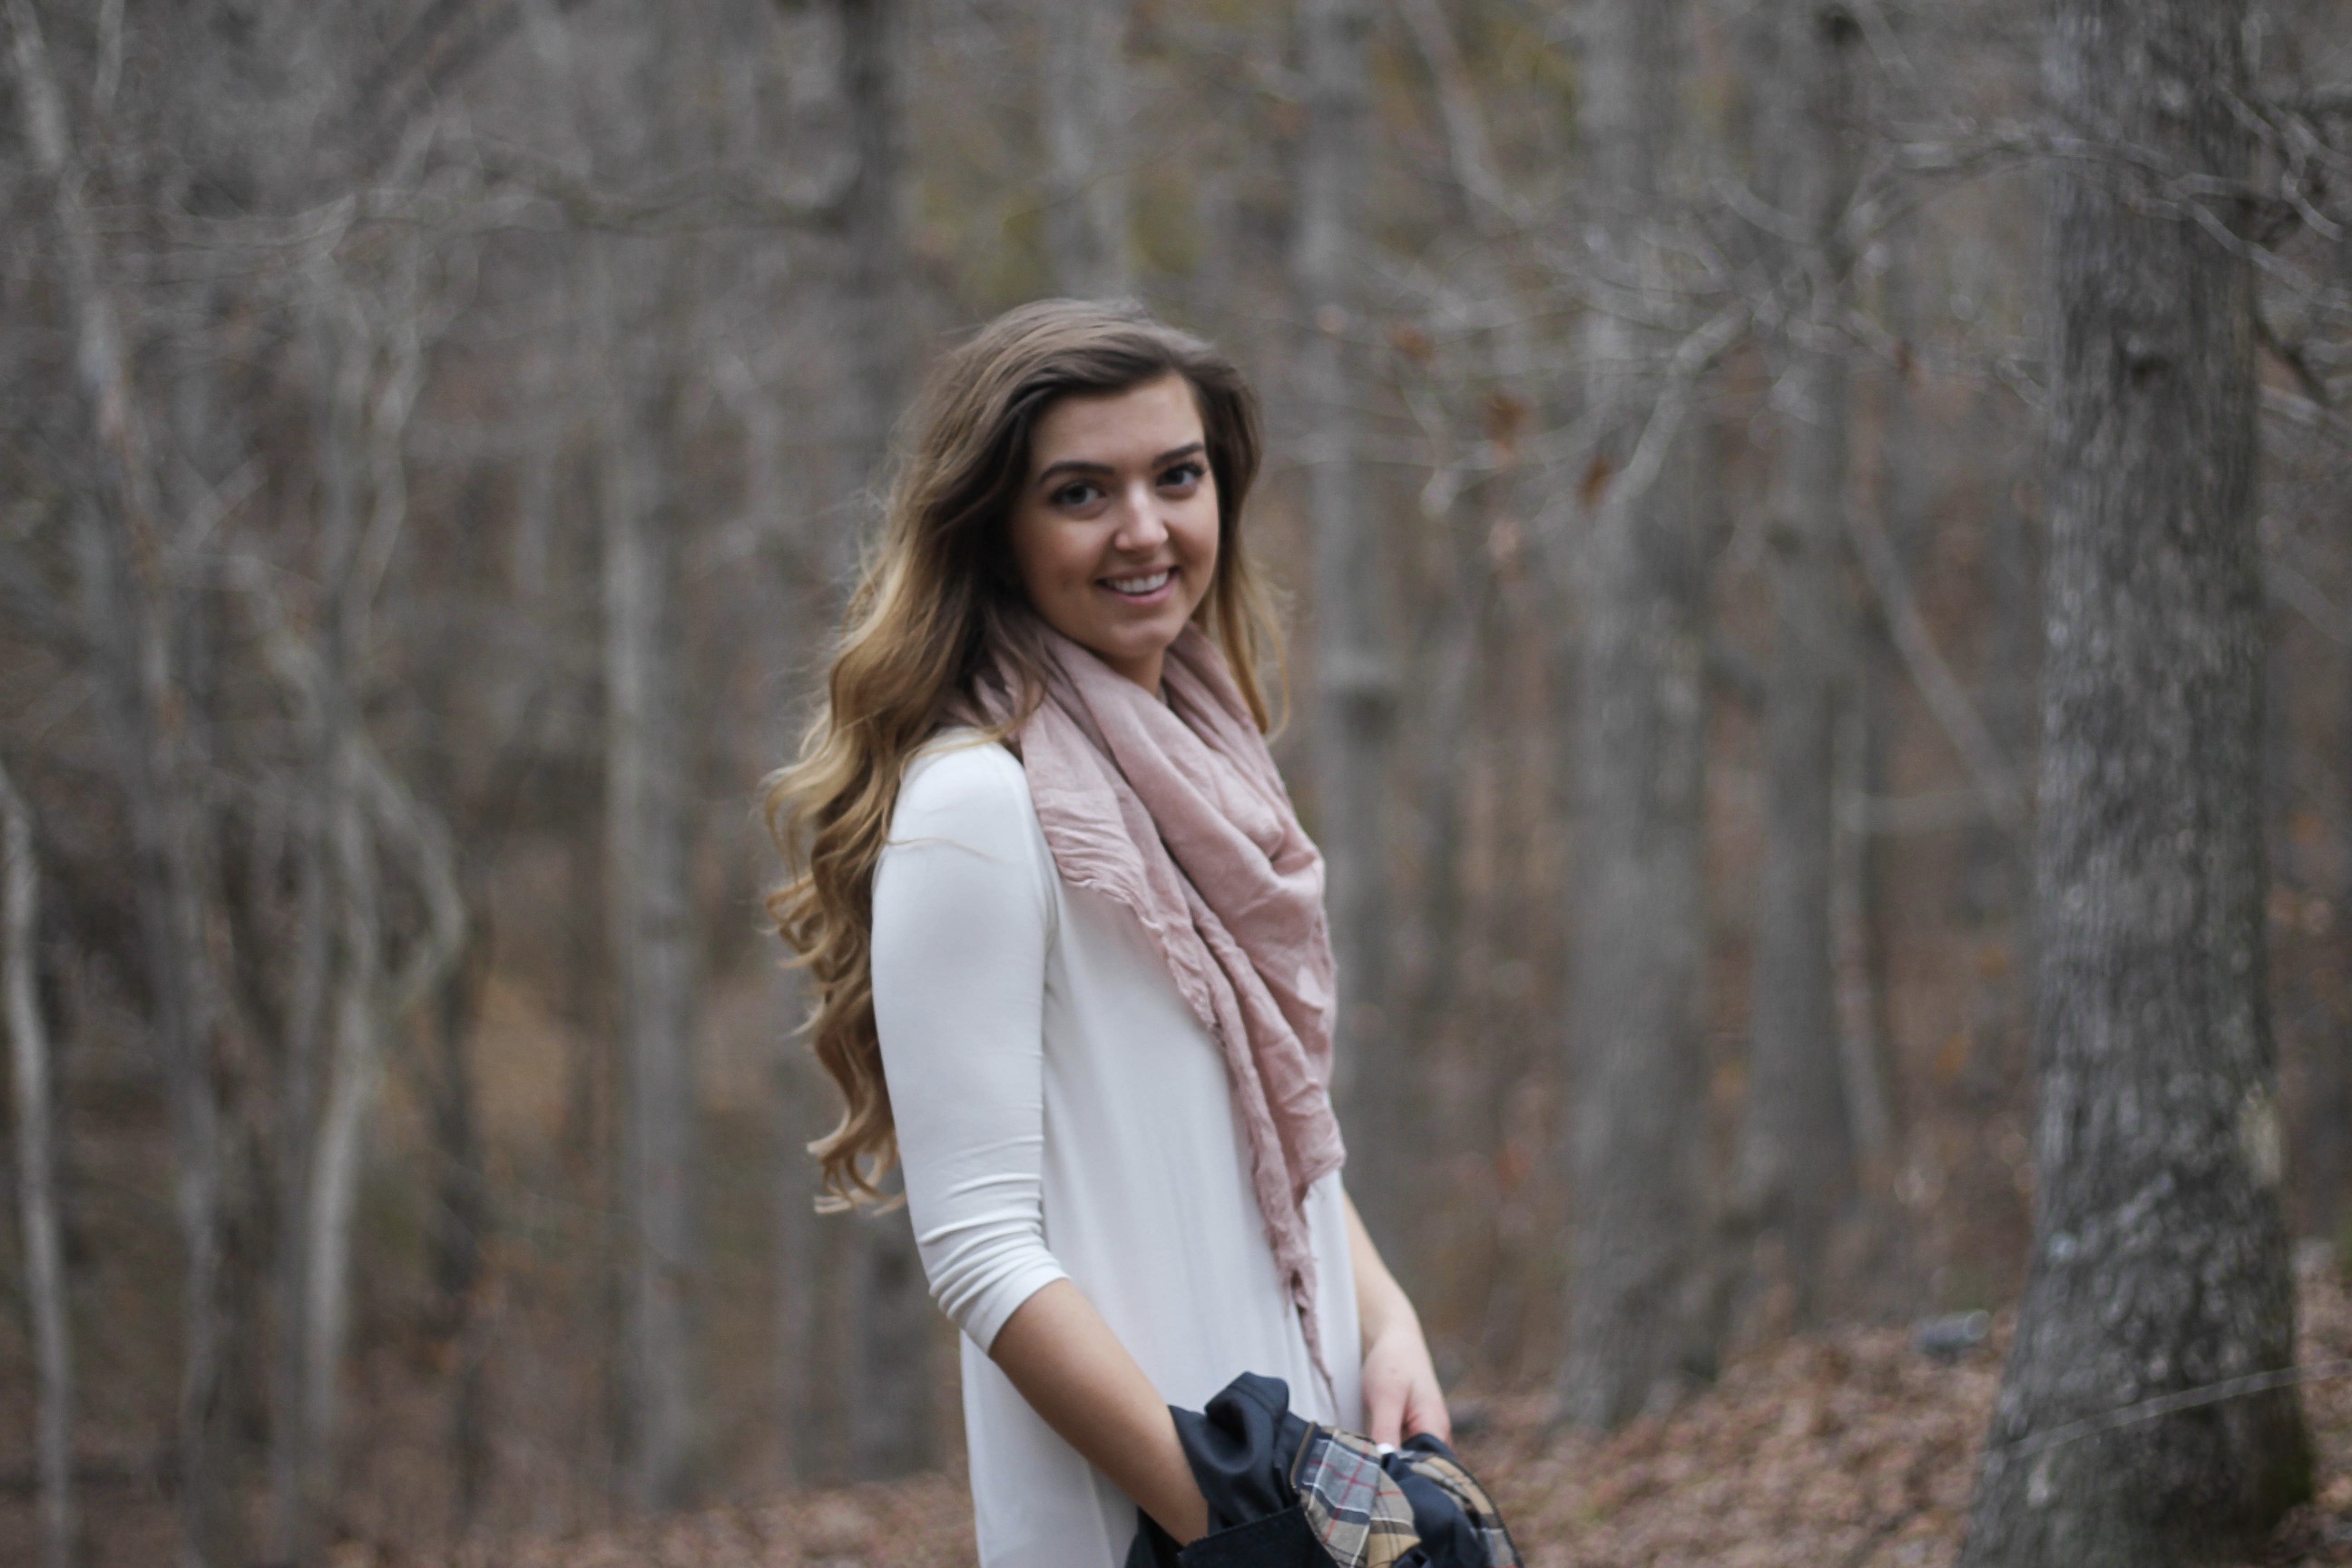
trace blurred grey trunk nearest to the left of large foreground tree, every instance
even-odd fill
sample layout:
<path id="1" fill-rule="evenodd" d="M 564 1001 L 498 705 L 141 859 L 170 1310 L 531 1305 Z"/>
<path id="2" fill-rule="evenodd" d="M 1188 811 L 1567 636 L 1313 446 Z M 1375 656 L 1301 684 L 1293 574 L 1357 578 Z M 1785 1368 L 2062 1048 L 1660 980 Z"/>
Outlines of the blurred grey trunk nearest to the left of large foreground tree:
<path id="1" fill-rule="evenodd" d="M 1858 28 L 1842 5 L 1823 0 L 1778 0 L 1771 24 L 1778 63 L 1764 85 L 1762 136 L 1778 148 L 1771 200 L 1802 235 L 1790 266 L 1804 275 L 1804 294 L 1776 346 L 1778 630 L 1764 698 L 1764 867 L 1736 1201 L 1750 1232 L 1778 1234 L 1804 1321 L 1853 1192 L 1830 870 L 1837 703 L 1851 663 L 1842 571 L 1849 397 L 1837 329 L 1846 256 L 1837 223 L 1856 179 Z"/>

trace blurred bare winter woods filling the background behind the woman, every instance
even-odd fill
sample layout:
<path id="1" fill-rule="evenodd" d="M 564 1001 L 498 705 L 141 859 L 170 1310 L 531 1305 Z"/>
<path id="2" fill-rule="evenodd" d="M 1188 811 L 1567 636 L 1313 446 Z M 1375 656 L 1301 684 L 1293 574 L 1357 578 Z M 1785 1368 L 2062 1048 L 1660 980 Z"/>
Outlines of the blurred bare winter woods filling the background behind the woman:
<path id="1" fill-rule="evenodd" d="M 2260 1126 L 2352 1251 L 2352 14 L 2213 14 L 2117 71 L 2234 172 L 2009 0 L 5 0 L 0 1549 L 953 1462 L 755 795 L 913 378 L 1042 294 L 1265 395 L 1350 1187 L 1456 1392 L 1613 1427 L 2025 1286 L 2053 181 L 2197 235 Z"/>

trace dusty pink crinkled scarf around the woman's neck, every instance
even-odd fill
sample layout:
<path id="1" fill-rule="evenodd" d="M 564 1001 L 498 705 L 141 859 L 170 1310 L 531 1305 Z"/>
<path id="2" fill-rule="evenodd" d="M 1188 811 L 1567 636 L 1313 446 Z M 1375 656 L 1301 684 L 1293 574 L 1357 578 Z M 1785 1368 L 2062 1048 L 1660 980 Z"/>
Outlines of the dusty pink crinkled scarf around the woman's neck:
<path id="1" fill-rule="evenodd" d="M 1305 1220 L 1308 1187 L 1345 1159 L 1322 853 L 1200 628 L 1167 651 L 1167 703 L 1061 632 L 1037 635 L 1044 701 L 1018 743 L 1044 842 L 1063 882 L 1136 912 L 1225 1053 L 1265 1241 L 1329 1382 Z"/>

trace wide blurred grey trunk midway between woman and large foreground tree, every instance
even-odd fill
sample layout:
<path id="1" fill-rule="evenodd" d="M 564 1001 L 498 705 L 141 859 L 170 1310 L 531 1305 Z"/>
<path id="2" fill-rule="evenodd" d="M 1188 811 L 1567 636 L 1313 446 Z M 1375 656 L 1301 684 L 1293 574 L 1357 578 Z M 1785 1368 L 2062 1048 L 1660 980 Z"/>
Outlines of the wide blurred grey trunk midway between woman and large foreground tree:
<path id="1" fill-rule="evenodd" d="M 1675 146 L 1682 7 L 1588 0 L 1581 132 L 1611 294 L 1663 294 L 1644 237 Z M 1576 562 L 1576 875 L 1571 879 L 1571 1276 L 1564 1413 L 1616 1427 L 1708 1359 L 1693 1288 L 1705 1244 L 1705 543 L 1689 440 L 1618 482 L 1665 395 L 1672 339 L 1595 310 L 1590 400 L 1609 411 Z"/>

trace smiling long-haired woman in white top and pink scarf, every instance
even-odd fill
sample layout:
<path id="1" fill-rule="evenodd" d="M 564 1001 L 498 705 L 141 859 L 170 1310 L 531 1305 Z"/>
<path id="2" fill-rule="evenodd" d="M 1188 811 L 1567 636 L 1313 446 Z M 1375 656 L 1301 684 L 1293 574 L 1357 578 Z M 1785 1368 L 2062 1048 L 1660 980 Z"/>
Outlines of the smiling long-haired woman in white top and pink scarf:
<path id="1" fill-rule="evenodd" d="M 964 1331 L 983 1563 L 1112 1568 L 1207 1528 L 1169 1403 L 1244 1371 L 1449 1436 L 1341 1187 L 1322 858 L 1265 752 L 1242 550 L 1256 400 L 1204 343 L 1047 301 L 913 421 L 771 898 L 847 1103 L 835 1199 L 898 1159 Z"/>

